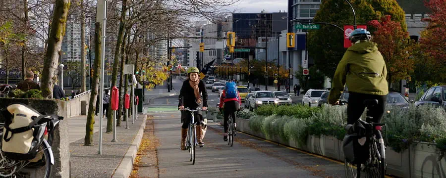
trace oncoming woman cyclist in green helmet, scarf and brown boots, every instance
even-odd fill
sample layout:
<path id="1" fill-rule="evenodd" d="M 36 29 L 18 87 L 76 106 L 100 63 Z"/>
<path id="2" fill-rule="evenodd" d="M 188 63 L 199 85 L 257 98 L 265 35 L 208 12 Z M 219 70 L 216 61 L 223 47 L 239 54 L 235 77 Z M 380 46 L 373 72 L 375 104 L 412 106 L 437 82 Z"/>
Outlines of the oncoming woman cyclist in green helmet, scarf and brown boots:
<path id="1" fill-rule="evenodd" d="M 184 107 L 189 109 L 201 108 L 207 110 L 208 107 L 208 93 L 206 92 L 206 86 L 202 80 L 199 79 L 198 74 L 200 71 L 196 67 L 190 67 L 187 69 L 187 80 L 184 81 L 181 87 L 180 94 L 178 96 L 178 109 L 183 110 Z M 202 128 L 206 128 L 203 122 L 202 111 L 197 111 L 194 115 L 195 122 L 197 124 L 197 142 L 198 146 L 203 146 L 203 131 Z M 181 150 L 186 150 L 185 139 L 187 136 L 187 129 L 189 128 L 189 122 L 191 119 L 190 112 L 181 111 Z"/>

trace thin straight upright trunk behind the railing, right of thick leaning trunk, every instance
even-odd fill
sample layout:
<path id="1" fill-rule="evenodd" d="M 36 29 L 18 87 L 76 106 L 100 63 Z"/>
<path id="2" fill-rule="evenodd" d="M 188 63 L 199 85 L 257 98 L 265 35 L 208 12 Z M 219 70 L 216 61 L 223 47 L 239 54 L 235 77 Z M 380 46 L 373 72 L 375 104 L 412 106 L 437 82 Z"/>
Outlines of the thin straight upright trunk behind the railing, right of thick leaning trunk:
<path id="1" fill-rule="evenodd" d="M 85 67 L 87 65 L 85 56 L 85 15 L 84 15 L 84 0 L 81 3 L 81 89 L 80 92 L 85 92 L 87 90 L 87 73 Z"/>

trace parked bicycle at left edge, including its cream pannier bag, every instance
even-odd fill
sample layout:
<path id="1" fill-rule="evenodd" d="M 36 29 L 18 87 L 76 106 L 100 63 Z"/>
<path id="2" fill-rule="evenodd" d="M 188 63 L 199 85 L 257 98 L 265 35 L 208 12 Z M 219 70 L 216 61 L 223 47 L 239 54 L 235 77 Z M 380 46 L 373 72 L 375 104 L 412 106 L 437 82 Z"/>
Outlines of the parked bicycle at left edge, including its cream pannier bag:
<path id="1" fill-rule="evenodd" d="M 1 109 L 1 115 L 5 120 L 0 123 L 0 177 L 22 177 L 24 168 L 43 168 L 42 178 L 51 178 L 51 142 L 63 117 L 44 115 L 21 103 Z"/>

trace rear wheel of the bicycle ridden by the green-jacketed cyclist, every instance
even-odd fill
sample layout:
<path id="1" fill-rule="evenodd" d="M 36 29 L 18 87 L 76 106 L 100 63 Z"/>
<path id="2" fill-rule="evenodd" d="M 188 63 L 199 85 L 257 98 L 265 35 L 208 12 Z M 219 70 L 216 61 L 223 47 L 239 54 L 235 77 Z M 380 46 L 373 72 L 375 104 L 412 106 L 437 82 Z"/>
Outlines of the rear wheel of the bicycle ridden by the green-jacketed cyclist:
<path id="1" fill-rule="evenodd" d="M 370 146 L 370 159 L 366 165 L 366 178 L 384 178 L 385 162 L 379 156 L 381 155 L 375 140 Z"/>

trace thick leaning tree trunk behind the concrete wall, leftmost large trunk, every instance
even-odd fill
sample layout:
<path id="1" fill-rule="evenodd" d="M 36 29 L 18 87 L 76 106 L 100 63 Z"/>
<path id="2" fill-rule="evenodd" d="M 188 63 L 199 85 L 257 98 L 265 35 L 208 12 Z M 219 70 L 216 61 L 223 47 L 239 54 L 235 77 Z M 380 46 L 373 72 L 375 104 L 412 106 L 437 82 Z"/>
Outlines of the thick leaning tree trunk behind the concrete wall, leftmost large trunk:
<path id="1" fill-rule="evenodd" d="M 42 96 L 45 98 L 53 97 L 53 86 L 56 81 L 56 69 L 59 58 L 59 51 L 65 35 L 66 18 L 70 0 L 56 0 L 53 13 L 53 24 L 48 38 L 48 49 L 45 54 L 44 68 L 42 73 Z"/>

